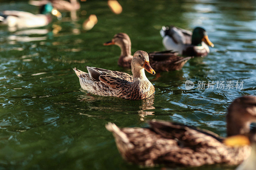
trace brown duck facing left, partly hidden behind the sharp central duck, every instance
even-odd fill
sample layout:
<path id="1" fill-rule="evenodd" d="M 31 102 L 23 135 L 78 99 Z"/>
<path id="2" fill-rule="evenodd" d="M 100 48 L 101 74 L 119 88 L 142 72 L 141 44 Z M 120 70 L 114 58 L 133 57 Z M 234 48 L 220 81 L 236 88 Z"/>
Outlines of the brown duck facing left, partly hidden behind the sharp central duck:
<path id="1" fill-rule="evenodd" d="M 121 48 L 121 55 L 118 65 L 121 67 L 131 67 L 131 39 L 126 33 L 117 33 L 111 41 L 103 45 L 117 45 Z M 151 66 L 156 71 L 180 70 L 183 65 L 192 57 L 181 57 L 172 51 L 156 51 L 148 53 Z"/>

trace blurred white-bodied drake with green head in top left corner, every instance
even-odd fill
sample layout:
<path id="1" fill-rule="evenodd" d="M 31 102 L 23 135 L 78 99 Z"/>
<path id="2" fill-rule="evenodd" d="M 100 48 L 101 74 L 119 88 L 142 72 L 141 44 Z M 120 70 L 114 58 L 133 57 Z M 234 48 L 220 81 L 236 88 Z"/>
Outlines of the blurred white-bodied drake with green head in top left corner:
<path id="1" fill-rule="evenodd" d="M 61 18 L 59 11 L 52 7 L 51 3 L 40 7 L 40 14 L 32 14 L 26 11 L 3 11 L 0 14 L 0 23 L 17 29 L 34 28 L 48 25 L 51 21 L 51 14 Z"/>

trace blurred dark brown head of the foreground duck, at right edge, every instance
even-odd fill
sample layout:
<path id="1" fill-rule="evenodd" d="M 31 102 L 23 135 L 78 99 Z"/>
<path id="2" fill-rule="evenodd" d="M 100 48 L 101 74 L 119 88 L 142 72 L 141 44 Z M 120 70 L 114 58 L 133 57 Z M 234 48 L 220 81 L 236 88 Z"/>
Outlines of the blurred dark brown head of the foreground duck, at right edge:
<path id="1" fill-rule="evenodd" d="M 256 122 L 256 97 L 243 96 L 228 107 L 227 135 L 243 135 L 250 132 L 250 124 Z"/>

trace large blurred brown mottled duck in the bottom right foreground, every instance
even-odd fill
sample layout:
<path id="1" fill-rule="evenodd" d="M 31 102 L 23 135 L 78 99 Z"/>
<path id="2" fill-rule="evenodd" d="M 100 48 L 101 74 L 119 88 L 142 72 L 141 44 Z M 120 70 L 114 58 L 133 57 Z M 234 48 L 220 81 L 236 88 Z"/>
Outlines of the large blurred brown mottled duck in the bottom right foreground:
<path id="1" fill-rule="evenodd" d="M 256 97 L 244 96 L 232 102 L 227 114 L 228 137 L 250 131 L 256 121 Z M 217 134 L 165 121 L 149 121 L 150 128 L 122 128 L 108 123 L 124 159 L 144 166 L 202 166 L 240 164 L 250 154 L 249 146 L 227 146 Z"/>

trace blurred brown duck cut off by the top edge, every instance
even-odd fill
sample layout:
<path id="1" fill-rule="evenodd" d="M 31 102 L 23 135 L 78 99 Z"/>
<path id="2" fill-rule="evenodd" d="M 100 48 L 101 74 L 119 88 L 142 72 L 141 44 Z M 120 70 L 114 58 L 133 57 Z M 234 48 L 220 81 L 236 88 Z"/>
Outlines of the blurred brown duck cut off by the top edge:
<path id="1" fill-rule="evenodd" d="M 76 0 L 40 0 L 40 1 L 34 1 L 30 0 L 28 2 L 31 5 L 36 6 L 42 6 L 44 4 L 52 3 L 53 7 L 60 11 L 73 11 L 73 10 L 79 10 L 80 9 L 80 3 Z"/>

